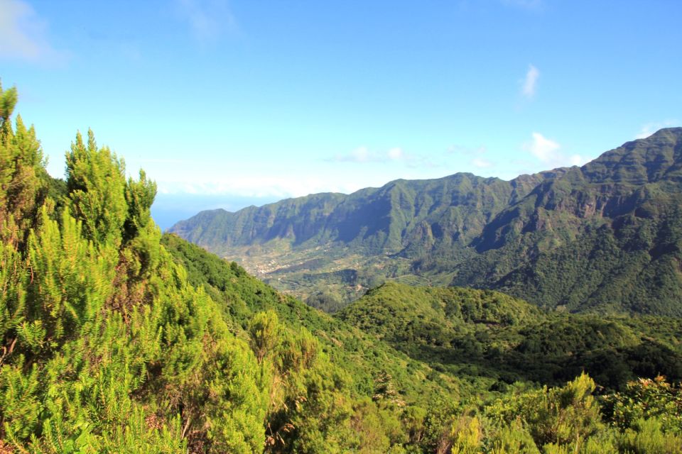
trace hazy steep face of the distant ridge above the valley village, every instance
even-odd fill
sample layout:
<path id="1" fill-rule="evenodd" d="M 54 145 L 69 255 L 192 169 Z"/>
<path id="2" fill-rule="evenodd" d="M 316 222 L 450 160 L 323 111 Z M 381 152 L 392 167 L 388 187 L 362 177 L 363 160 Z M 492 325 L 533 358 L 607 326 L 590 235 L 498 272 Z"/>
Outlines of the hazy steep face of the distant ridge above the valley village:
<path id="1" fill-rule="evenodd" d="M 365 253 L 395 254 L 420 243 L 424 248 L 465 243 L 539 179 L 512 183 L 456 174 L 396 180 L 350 195 L 313 194 L 237 213 L 204 211 L 178 222 L 171 233 L 218 253 L 285 239 L 294 248 L 342 243 Z"/>

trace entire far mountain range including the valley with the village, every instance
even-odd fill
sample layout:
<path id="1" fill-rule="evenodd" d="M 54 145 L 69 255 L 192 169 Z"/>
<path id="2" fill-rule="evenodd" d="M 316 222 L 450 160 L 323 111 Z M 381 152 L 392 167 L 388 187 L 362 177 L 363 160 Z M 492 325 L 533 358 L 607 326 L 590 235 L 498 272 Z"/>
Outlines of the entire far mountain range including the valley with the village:
<path id="1" fill-rule="evenodd" d="M 175 231 L 336 310 L 386 279 L 497 289 L 569 311 L 682 315 L 682 128 L 510 182 L 397 180 Z"/>

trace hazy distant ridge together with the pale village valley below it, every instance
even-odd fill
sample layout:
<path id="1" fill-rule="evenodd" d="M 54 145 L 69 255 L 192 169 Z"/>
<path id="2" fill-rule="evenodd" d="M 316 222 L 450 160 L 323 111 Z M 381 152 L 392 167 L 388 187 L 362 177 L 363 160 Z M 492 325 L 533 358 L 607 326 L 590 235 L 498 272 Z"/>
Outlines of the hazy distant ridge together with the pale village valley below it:
<path id="1" fill-rule="evenodd" d="M 486 223 L 548 175 L 514 182 L 470 174 L 397 180 L 350 195 L 315 194 L 237 213 L 205 211 L 171 232 L 330 309 L 386 277 L 419 279 L 413 261 L 429 251 L 469 255 L 467 244 Z"/>

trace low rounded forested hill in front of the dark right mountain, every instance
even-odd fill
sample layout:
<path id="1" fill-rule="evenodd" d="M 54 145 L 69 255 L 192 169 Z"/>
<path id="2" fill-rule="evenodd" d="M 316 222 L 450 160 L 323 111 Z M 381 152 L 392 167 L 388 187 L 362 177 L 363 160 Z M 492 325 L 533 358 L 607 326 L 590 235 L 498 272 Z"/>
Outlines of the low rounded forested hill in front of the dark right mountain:
<path id="1" fill-rule="evenodd" d="M 336 314 L 454 375 L 558 384 L 586 371 L 605 387 L 682 378 L 682 322 L 545 313 L 490 290 L 388 283 Z"/>

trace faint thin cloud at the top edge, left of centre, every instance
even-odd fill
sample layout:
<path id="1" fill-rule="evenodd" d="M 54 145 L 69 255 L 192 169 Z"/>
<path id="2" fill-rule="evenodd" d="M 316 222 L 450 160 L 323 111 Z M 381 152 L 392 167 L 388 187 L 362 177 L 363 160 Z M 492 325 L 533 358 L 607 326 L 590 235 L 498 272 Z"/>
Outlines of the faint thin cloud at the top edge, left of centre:
<path id="1" fill-rule="evenodd" d="M 226 32 L 237 30 L 227 0 L 174 0 L 178 16 L 187 22 L 200 44 L 215 43 Z"/>

